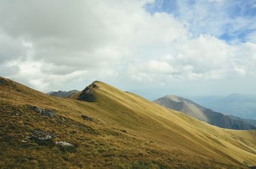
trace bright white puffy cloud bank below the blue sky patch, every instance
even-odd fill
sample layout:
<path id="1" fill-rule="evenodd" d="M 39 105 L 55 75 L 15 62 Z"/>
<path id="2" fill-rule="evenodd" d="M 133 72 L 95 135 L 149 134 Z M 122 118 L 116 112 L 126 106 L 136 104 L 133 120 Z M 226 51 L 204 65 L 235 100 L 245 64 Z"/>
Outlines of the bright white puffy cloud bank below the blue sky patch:
<path id="1" fill-rule="evenodd" d="M 201 35 L 170 45 L 170 54 L 131 66 L 132 77 L 147 73 L 158 82 L 246 77 L 256 72 L 254 43 L 229 45 L 213 36 Z M 141 80 L 139 78 L 138 80 Z"/>

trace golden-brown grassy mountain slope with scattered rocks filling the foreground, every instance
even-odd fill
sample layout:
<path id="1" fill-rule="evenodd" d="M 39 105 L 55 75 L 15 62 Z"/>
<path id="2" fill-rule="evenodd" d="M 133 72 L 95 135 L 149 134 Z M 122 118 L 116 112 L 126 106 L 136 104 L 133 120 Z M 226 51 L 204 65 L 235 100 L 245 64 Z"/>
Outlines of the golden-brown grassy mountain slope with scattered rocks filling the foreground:
<path id="1" fill-rule="evenodd" d="M 250 168 L 256 131 L 222 129 L 93 82 L 57 98 L 0 78 L 0 168 Z"/>

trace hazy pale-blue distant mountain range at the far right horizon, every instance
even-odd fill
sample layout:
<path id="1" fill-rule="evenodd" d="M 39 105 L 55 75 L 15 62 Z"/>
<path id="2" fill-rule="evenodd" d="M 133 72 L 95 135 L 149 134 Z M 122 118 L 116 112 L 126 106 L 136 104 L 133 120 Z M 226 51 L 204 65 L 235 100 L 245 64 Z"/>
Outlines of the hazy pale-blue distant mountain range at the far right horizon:
<path id="1" fill-rule="evenodd" d="M 214 111 L 232 114 L 243 119 L 256 120 L 256 95 L 230 94 L 228 96 L 190 97 L 196 103 Z"/>

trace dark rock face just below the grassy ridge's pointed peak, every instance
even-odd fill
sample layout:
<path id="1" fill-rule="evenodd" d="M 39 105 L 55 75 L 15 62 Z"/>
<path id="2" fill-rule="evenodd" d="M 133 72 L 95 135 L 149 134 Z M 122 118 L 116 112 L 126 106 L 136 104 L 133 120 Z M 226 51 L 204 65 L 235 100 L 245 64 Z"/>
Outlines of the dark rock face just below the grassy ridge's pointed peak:
<path id="1" fill-rule="evenodd" d="M 95 102 L 96 96 L 93 92 L 93 88 L 98 88 L 97 84 L 93 83 L 87 86 L 83 92 L 78 96 L 79 100 L 88 101 L 88 102 Z"/>

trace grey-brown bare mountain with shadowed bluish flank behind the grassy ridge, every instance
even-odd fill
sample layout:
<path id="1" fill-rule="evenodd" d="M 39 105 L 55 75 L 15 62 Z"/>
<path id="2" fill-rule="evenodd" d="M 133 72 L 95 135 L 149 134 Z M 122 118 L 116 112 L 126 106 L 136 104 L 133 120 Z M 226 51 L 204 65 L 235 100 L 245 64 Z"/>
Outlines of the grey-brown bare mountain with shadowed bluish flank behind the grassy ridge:
<path id="1" fill-rule="evenodd" d="M 242 119 L 235 119 L 229 115 L 214 112 L 209 108 L 202 107 L 195 102 L 178 96 L 168 95 L 156 99 L 155 103 L 179 112 L 195 117 L 200 121 L 207 122 L 220 128 L 228 129 L 256 129 L 252 124 L 247 124 Z"/>

